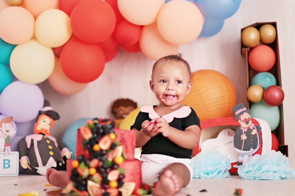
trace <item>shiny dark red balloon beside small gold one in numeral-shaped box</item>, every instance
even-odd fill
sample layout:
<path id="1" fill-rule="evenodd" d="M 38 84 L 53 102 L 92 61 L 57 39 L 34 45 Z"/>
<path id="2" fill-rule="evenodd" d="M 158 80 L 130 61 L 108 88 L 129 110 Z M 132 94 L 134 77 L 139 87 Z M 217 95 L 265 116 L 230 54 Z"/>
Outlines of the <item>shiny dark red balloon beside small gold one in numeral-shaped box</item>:
<path id="1" fill-rule="evenodd" d="M 277 85 L 267 87 L 263 92 L 263 99 L 265 103 L 271 106 L 278 106 L 283 103 L 285 98 L 284 91 Z"/>

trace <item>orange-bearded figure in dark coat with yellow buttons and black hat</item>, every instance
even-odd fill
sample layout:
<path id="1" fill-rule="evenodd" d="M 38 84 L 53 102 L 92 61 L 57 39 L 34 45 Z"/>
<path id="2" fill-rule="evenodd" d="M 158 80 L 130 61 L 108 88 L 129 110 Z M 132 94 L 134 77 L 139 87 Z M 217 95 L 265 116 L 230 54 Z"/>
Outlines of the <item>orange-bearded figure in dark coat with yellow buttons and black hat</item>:
<path id="1" fill-rule="evenodd" d="M 71 158 L 71 152 L 66 145 L 51 136 L 50 128 L 55 120 L 59 119 L 59 115 L 50 109 L 51 107 L 47 106 L 40 111 L 34 125 L 35 134 L 27 135 L 17 144 L 21 166 L 41 175 L 46 175 L 47 168 L 57 167 L 59 162 L 63 163 L 63 156 Z"/>

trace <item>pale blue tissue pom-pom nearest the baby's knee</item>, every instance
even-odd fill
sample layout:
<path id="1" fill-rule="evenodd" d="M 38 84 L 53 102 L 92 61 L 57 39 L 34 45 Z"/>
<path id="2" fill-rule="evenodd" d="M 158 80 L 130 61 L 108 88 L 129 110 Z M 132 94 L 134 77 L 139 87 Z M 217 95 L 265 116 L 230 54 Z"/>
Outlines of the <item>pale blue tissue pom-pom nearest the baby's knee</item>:
<path id="1" fill-rule="evenodd" d="M 230 159 L 212 149 L 198 153 L 191 159 L 190 165 L 193 168 L 193 177 L 201 179 L 230 177 L 228 170 L 232 167 Z"/>

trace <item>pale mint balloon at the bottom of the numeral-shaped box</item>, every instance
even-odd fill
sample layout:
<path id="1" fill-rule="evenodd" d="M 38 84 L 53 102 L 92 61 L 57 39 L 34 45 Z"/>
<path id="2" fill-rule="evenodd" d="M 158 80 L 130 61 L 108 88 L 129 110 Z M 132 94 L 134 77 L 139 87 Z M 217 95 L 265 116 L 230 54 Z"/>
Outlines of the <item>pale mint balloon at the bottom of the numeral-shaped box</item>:
<path id="1" fill-rule="evenodd" d="M 270 106 L 262 99 L 257 103 L 253 103 L 250 107 L 251 117 L 260 118 L 265 120 L 271 128 L 271 131 L 275 130 L 280 123 L 280 109 L 278 106 Z"/>

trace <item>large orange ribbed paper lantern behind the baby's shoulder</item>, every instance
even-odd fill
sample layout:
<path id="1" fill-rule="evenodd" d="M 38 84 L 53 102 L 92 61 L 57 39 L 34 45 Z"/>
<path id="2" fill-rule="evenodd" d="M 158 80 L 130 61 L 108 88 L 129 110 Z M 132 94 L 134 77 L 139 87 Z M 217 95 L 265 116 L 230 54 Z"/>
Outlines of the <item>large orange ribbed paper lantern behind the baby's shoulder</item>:
<path id="1" fill-rule="evenodd" d="M 192 73 L 190 93 L 182 103 L 193 108 L 200 120 L 229 117 L 236 104 L 236 91 L 231 81 L 214 70 Z"/>

